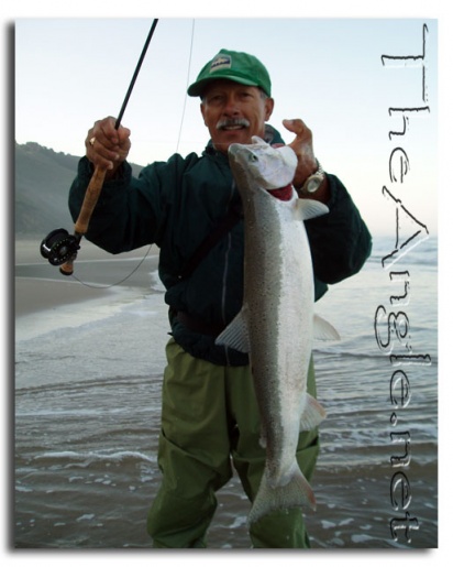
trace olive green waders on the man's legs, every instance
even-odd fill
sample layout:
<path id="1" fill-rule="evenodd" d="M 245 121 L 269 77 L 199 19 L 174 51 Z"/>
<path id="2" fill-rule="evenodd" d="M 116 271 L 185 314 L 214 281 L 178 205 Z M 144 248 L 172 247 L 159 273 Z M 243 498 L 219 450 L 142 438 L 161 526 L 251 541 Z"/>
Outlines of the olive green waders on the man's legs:
<path id="1" fill-rule="evenodd" d="M 206 547 L 216 491 L 232 477 L 231 460 L 253 501 L 264 470 L 259 416 L 248 367 L 196 359 L 173 339 L 167 345 L 158 465 L 163 483 L 148 513 L 153 547 Z M 308 390 L 316 395 L 310 367 Z M 300 435 L 297 460 L 310 480 L 318 432 Z M 268 514 L 251 525 L 253 547 L 310 547 L 300 509 Z"/>

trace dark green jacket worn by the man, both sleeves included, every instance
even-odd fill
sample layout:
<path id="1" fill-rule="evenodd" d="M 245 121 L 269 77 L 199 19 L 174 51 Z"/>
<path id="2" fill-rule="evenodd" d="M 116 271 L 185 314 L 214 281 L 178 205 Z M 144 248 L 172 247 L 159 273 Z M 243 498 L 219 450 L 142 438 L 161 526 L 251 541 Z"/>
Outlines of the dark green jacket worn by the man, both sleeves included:
<path id="1" fill-rule="evenodd" d="M 272 129 L 273 143 L 283 142 Z M 69 209 L 77 219 L 92 175 L 86 157 L 69 192 Z M 371 253 L 366 225 L 342 183 L 329 175 L 330 212 L 306 222 L 316 275 L 316 299 L 328 284 L 357 273 Z M 173 155 L 142 170 L 137 178 L 124 162 L 120 175 L 107 182 L 86 238 L 111 253 L 155 243 L 161 249 L 159 276 L 169 305 L 172 334 L 192 356 L 218 364 L 245 364 L 247 357 L 214 345 L 214 337 L 189 330 L 177 312 L 216 326 L 226 325 L 240 310 L 243 294 L 243 223 L 222 238 L 187 280 L 178 277 L 184 265 L 241 199 L 228 156 L 211 144 L 201 156 Z"/>

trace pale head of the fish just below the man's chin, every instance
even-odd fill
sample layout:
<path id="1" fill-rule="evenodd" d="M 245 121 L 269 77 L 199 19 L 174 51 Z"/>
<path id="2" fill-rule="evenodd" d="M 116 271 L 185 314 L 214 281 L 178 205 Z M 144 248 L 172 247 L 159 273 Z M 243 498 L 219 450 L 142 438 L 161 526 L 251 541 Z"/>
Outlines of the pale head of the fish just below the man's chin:
<path id="1" fill-rule="evenodd" d="M 258 137 L 251 144 L 230 144 L 229 161 L 237 186 L 278 189 L 292 183 L 297 157 L 288 145 L 275 148 Z"/>

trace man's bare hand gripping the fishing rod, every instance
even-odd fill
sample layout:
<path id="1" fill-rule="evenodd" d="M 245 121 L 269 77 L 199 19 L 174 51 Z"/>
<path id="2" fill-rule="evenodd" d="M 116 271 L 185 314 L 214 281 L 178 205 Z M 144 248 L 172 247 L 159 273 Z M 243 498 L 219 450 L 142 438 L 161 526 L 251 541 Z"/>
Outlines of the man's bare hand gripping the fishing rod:
<path id="1" fill-rule="evenodd" d="M 98 120 L 88 130 L 85 140 L 88 160 L 101 170 L 107 170 L 107 177 L 114 176 L 117 170 L 128 157 L 131 149 L 131 131 L 128 128 L 114 129 L 115 119 L 112 117 Z"/>

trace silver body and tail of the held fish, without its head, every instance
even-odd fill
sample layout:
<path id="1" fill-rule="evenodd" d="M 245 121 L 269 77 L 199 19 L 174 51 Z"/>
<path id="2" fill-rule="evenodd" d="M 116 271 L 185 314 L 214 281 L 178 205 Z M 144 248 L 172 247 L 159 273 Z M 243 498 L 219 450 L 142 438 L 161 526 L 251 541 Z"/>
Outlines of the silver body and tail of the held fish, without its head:
<path id="1" fill-rule="evenodd" d="M 313 503 L 296 461 L 312 346 L 311 257 L 303 222 L 295 219 L 295 211 L 279 201 L 274 206 L 267 199 L 265 205 L 256 212 L 259 222 L 245 227 L 244 305 L 266 446 L 262 494 L 250 521 L 270 508 Z"/>

